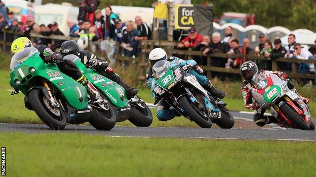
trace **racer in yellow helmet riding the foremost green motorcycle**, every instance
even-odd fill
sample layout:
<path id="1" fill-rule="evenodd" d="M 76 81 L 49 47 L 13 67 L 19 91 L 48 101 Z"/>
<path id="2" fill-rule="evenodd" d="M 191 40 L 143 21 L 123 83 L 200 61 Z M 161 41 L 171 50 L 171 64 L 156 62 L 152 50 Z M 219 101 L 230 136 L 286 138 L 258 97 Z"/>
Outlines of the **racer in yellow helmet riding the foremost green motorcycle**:
<path id="1" fill-rule="evenodd" d="M 11 51 L 15 54 L 26 47 L 33 47 L 32 42 L 27 37 L 19 37 L 12 42 Z M 38 45 L 36 48 L 40 52 L 39 56 L 41 56 L 45 63 L 56 63 L 62 73 L 70 76 L 78 83 L 81 83 L 87 89 L 92 101 L 98 100 L 100 97 L 98 90 L 89 82 L 86 76 L 80 72 L 72 61 L 64 60 L 63 55 L 53 52 L 46 45 Z"/>

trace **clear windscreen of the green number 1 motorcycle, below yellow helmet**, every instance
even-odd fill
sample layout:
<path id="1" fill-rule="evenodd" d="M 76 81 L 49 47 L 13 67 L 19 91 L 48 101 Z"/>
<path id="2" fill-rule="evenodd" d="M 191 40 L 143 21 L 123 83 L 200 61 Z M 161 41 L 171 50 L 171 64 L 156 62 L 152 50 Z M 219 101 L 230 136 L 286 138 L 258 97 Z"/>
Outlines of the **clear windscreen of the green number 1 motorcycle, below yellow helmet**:
<path id="1" fill-rule="evenodd" d="M 28 56 L 31 56 L 37 51 L 38 50 L 35 47 L 26 47 L 23 50 L 15 53 L 11 58 L 10 72 L 13 71 L 17 66 L 19 66 L 18 64 L 21 64 L 22 62 L 27 60 Z"/>

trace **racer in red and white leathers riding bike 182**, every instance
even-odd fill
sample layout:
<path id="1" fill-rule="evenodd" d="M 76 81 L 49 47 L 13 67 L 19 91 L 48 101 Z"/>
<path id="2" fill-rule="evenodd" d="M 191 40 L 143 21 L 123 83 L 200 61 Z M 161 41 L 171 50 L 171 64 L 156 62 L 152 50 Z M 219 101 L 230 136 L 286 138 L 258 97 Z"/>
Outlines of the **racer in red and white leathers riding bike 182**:
<path id="1" fill-rule="evenodd" d="M 278 120 L 275 119 L 274 116 L 264 116 L 265 108 L 259 107 L 258 103 L 255 102 L 255 100 L 251 96 L 251 88 L 252 88 L 252 83 L 251 80 L 254 75 L 263 73 L 263 74 L 275 74 L 280 77 L 282 80 L 287 80 L 288 75 L 286 73 L 280 72 L 280 71 L 265 71 L 262 70 L 261 72 L 258 73 L 258 67 L 254 62 L 245 62 L 241 66 L 241 73 L 244 77 L 244 81 L 242 84 L 242 95 L 244 98 L 244 104 L 247 109 L 253 109 L 255 110 L 254 114 L 254 122 L 257 126 L 263 127 L 266 124 L 271 124 L 271 123 L 278 123 Z M 291 91 L 297 93 L 297 90 L 294 87 L 294 84 L 291 81 L 288 81 L 288 87 Z M 299 94 L 298 94 L 299 95 Z M 308 98 L 305 98 L 301 95 L 299 95 L 301 99 L 307 104 L 309 102 Z"/>

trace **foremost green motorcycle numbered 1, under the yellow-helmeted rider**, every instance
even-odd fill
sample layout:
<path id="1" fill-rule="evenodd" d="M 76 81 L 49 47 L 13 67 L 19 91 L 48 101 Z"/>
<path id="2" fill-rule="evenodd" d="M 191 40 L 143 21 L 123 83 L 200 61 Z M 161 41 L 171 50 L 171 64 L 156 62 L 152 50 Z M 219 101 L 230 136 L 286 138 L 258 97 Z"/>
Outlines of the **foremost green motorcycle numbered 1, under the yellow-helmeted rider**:
<path id="1" fill-rule="evenodd" d="M 96 73 L 87 77 L 91 79 L 93 75 Z M 13 55 L 10 85 L 14 88 L 11 94 L 21 91 L 25 95 L 25 107 L 34 110 L 54 130 L 64 129 L 66 123 L 89 122 L 98 130 L 110 130 L 115 125 L 116 114 L 105 96 L 107 92 L 100 90 L 102 98 L 89 102 L 86 88 L 60 72 L 56 64 L 45 64 L 34 47 Z"/>

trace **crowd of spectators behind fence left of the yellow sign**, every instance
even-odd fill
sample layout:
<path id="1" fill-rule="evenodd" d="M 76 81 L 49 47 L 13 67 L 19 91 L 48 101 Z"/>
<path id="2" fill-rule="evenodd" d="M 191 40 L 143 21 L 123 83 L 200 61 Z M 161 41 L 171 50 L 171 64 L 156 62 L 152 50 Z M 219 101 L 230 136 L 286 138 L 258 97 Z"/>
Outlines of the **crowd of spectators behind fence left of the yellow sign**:
<path id="1" fill-rule="evenodd" d="M 88 37 L 90 42 L 97 44 L 101 49 L 106 50 L 109 43 L 118 43 L 121 47 L 116 47 L 115 52 L 120 52 L 125 56 L 137 57 L 141 49 L 139 43 L 141 40 L 151 38 L 151 28 L 142 21 L 140 16 L 136 16 L 134 21 L 123 22 L 119 15 L 112 12 L 110 6 L 104 7 L 105 16 L 98 9 L 100 1 L 83 0 L 79 4 L 79 14 L 77 21 L 67 20 L 70 37 L 79 37 L 85 39 Z M 30 33 L 41 34 L 44 36 L 64 35 L 58 28 L 56 22 L 49 25 L 36 24 L 34 17 L 29 15 L 26 22 L 18 21 L 13 12 L 9 11 L 5 4 L 0 0 L 0 30 L 13 30 L 22 32 L 23 35 L 7 35 L 7 41 L 13 41 L 20 36 L 30 38 Z M 3 32 L 0 32 L 0 40 L 3 40 Z M 33 44 L 45 44 L 55 50 L 60 47 L 63 40 L 51 40 L 47 38 L 34 38 Z M 102 47 L 105 46 L 105 47 Z M 115 46 L 114 46 L 115 47 Z"/>

